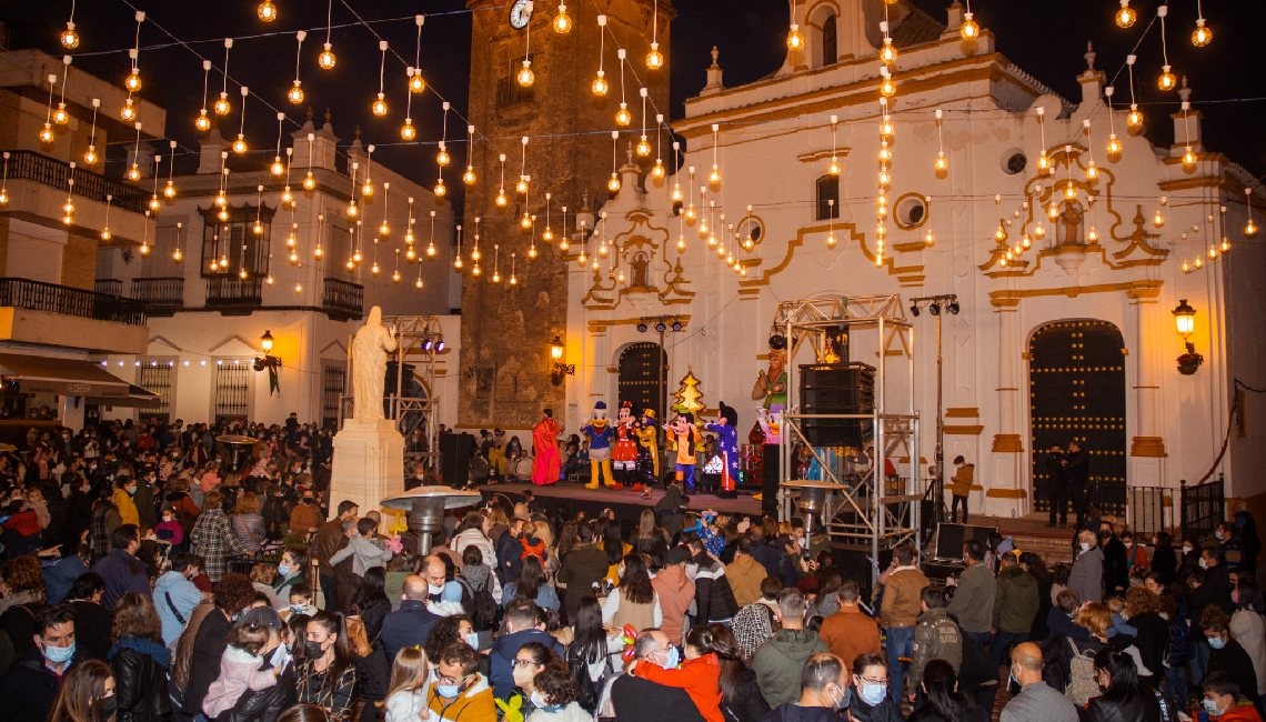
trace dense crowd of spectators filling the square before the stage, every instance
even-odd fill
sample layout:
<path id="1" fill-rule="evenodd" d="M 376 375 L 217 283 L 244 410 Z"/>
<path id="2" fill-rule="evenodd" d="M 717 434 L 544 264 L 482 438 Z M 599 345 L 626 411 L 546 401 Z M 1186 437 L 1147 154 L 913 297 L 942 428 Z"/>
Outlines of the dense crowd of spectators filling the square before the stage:
<path id="1" fill-rule="evenodd" d="M 225 431 L 54 428 L 0 455 L 0 717 L 1261 719 L 1243 510 L 1144 543 L 1090 509 L 1071 564 L 970 540 L 944 584 L 908 545 L 871 584 L 789 522 L 530 493 L 448 517 L 418 555 L 324 504 L 311 427 L 243 424 L 260 443 L 235 462 L 206 438 Z"/>

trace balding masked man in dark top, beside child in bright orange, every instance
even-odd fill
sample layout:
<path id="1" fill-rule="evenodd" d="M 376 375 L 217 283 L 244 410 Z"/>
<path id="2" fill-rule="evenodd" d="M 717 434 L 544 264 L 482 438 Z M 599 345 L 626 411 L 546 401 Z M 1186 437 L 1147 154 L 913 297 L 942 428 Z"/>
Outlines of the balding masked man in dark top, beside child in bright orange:
<path id="1" fill-rule="evenodd" d="M 661 630 L 638 632 L 633 641 L 633 657 L 639 664 L 665 668 L 677 665 L 677 650 Z M 699 709 L 681 689 L 665 687 L 642 676 L 624 674 L 611 683 L 610 700 L 614 717 L 620 722 L 701 722 Z"/>

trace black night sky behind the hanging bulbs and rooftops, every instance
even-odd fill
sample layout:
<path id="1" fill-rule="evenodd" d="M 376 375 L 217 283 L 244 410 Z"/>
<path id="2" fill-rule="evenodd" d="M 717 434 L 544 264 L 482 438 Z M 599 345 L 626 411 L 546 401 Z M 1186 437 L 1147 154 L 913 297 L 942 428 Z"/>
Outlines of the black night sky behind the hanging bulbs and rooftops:
<path id="1" fill-rule="evenodd" d="M 568 6 L 575 13 L 586 1 L 589 0 L 571 0 Z M 944 20 L 946 0 L 914 1 L 938 20 Z M 277 109 L 303 120 L 304 110 L 286 103 L 285 91 L 295 71 L 294 30 L 308 29 L 300 77 L 308 94 L 308 104 L 313 106 L 318 120 L 329 108 L 335 130 L 344 142 L 351 141 L 352 128 L 360 125 L 363 142 L 381 147 L 381 155 L 376 153 L 375 160 L 385 161 L 427 185 L 433 182 L 433 147 L 399 144 L 398 132 L 405 100 L 405 63 L 391 53 L 387 56 L 386 72 L 391 113 L 384 119 L 370 114 L 370 101 L 377 92 L 380 51 L 377 38 L 356 24 L 353 10 L 385 37 L 391 49 L 409 65 L 413 63 L 415 37 L 411 16 L 419 11 L 425 13 L 428 18 L 422 34 L 422 67 L 425 77 L 432 89 L 452 101 L 457 113 L 463 113 L 471 53 L 470 14 L 465 3 L 334 0 L 333 24 L 351 27 L 333 30 L 332 43 L 338 54 L 338 66 L 333 72 L 316 67 L 316 54 L 324 42 L 325 4 L 319 0 L 275 3 L 281 13 L 280 19 L 265 25 L 256 18 L 256 0 L 204 4 L 187 0 L 81 1 L 76 24 L 82 42 L 76 51 L 76 67 L 122 82 L 127 73 L 127 48 L 132 46 L 135 27 L 133 10 L 146 10 L 151 20 L 187 44 L 176 44 L 154 23 L 146 23 L 141 37 L 141 71 L 146 86 L 141 95 L 167 108 L 168 136 L 191 152 L 199 138 L 192 119 L 201 106 L 203 86 L 201 61 L 191 51 L 215 63 L 210 82 L 210 96 L 214 99 L 220 85 L 218 70 L 224 60 L 222 38 L 233 35 L 237 42 L 229 56 L 229 96 L 234 101 L 234 111 L 222 132 L 229 138 L 237 133 L 241 96 L 235 82 L 244 82 L 252 91 L 261 94 L 273 108 L 265 106 L 257 99 L 251 100 L 247 109 L 247 138 L 252 142 L 252 151 L 256 151 L 253 162 L 262 167 L 272 156 Z M 508 5 L 509 3 L 506 8 Z M 1075 79 L 1085 68 L 1082 53 L 1086 41 L 1094 41 L 1096 66 L 1105 70 L 1112 81 L 1119 70 L 1123 71 L 1125 54 L 1155 15 L 1157 5 L 1156 0 L 1133 0 L 1132 6 L 1138 10 L 1139 20 L 1128 30 L 1122 30 L 1113 23 L 1112 14 L 1117 3 L 1112 0 L 993 0 L 977 1 L 972 4 L 972 10 L 981 25 L 996 35 L 998 48 L 1006 57 L 1065 98 L 1077 100 L 1080 91 Z M 199 13 L 196 9 L 200 6 L 214 11 Z M 679 16 L 672 27 L 670 52 L 671 118 L 680 118 L 682 100 L 695 95 L 703 86 L 704 68 L 710 62 L 709 49 L 714 44 L 720 49 L 720 63 L 729 86 L 765 76 L 781 65 L 787 25 L 786 3 L 677 0 L 676 6 Z M 537 0 L 538 13 L 552 15 L 553 10 L 552 0 Z M 0 9 L 0 20 L 9 28 L 10 47 L 39 47 L 60 54 L 62 51 L 57 44 L 57 32 L 65 25 L 68 11 L 68 0 L 6 3 Z M 1261 72 L 1257 60 L 1261 51 L 1252 48 L 1261 42 L 1266 3 L 1209 0 L 1204 3 L 1204 11 L 1215 37 L 1209 47 L 1193 48 L 1190 34 L 1196 3 L 1171 3 L 1167 19 L 1170 63 L 1177 75 L 1190 79 L 1194 89 L 1193 105 L 1205 117 L 1206 148 L 1227 153 L 1261 177 L 1266 174 L 1266 134 L 1261 133 L 1266 124 L 1266 73 Z M 392 18 L 398 20 L 379 22 Z M 585 30 L 589 28 L 576 28 L 572 32 Z M 1153 28 L 1138 49 L 1136 82 L 1139 104 L 1151 119 L 1148 137 L 1155 143 L 1167 144 L 1171 141 L 1170 124 L 1160 119 L 1177 110 L 1179 99 L 1176 94 L 1162 96 L 1155 87 L 1161 65 L 1157 30 L 1158 28 Z M 266 33 L 275 35 L 249 37 Z M 542 41 L 548 42 L 548 37 Z M 167 47 L 147 49 L 152 46 Z M 1115 84 L 1117 99 L 1127 99 L 1124 75 Z M 430 91 L 420 96 L 420 100 L 414 99 L 411 115 L 419 139 L 433 143 L 438 138 L 442 117 L 439 104 L 439 98 Z M 109 110 L 116 113 L 118 109 Z M 457 114 L 449 117 L 449 146 L 457 149 L 454 163 L 462 162 L 460 141 L 465 124 Z M 287 128 L 292 129 L 294 125 Z M 122 175 L 125 146 L 123 143 L 110 149 L 114 162 L 109 174 Z M 177 168 L 191 170 L 194 157 L 190 155 Z M 458 190 L 460 185 L 451 184 L 451 187 Z M 460 199 L 454 200 L 460 203 Z"/>

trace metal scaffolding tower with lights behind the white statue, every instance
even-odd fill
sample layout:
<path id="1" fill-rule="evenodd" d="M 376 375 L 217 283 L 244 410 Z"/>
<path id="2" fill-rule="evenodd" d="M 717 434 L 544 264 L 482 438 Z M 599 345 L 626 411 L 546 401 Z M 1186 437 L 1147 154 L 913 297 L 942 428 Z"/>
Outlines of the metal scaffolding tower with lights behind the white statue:
<path id="1" fill-rule="evenodd" d="M 396 431 L 403 436 L 409 436 L 413 428 L 420 424 L 423 437 L 427 440 L 425 451 L 408 451 L 408 446 L 405 446 L 405 474 L 409 474 L 409 469 L 415 461 L 422 461 L 428 471 L 438 472 L 439 427 L 436 419 L 442 399 L 436 394 L 436 355 L 444 350 L 444 329 L 437 315 L 385 315 L 382 326 L 387 328 L 394 326 L 396 331 L 395 388 L 386 389 L 382 398 L 384 413 L 386 418 L 395 422 Z M 415 364 L 415 367 L 420 364 L 417 370 L 422 374 L 427 389 L 425 396 L 405 395 L 404 369 L 406 362 Z M 348 338 L 346 379 L 352 377 L 353 364 L 352 343 Z M 343 428 L 343 419 L 351 417 L 352 403 L 353 396 L 344 394 L 339 404 L 338 428 Z"/>

